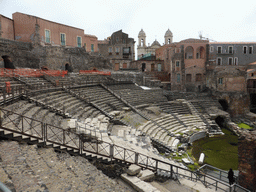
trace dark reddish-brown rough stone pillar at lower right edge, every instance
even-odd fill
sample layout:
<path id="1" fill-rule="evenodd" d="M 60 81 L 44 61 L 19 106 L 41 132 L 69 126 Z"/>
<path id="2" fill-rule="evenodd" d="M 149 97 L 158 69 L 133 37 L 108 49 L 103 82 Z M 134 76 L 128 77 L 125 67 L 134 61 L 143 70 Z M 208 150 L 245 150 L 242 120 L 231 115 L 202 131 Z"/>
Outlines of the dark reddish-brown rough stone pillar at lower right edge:
<path id="1" fill-rule="evenodd" d="M 238 183 L 256 190 L 256 131 L 243 132 L 238 141 Z"/>

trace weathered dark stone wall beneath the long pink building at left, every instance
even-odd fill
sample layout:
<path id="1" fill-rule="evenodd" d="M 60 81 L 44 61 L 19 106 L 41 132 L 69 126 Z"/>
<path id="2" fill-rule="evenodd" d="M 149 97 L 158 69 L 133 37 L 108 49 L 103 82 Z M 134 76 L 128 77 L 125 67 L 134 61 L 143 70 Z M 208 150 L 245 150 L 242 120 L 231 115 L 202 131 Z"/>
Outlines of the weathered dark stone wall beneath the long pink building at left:
<path id="1" fill-rule="evenodd" d="M 112 69 L 108 59 L 92 56 L 83 48 L 68 48 L 60 46 L 32 46 L 0 38 L 0 56 L 9 55 L 16 67 L 40 68 L 48 66 L 50 69 L 65 69 L 69 63 L 74 72 L 96 67 L 97 69 Z"/>

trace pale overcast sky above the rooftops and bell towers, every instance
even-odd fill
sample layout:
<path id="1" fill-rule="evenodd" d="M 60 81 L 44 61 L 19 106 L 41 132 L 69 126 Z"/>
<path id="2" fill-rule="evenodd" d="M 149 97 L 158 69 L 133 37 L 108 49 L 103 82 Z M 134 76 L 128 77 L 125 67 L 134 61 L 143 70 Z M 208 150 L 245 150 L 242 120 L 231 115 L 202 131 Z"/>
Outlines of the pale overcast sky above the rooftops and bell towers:
<path id="1" fill-rule="evenodd" d="M 174 42 L 200 31 L 215 41 L 256 42 L 255 0 L 0 0 L 0 14 L 14 12 L 81 28 L 99 40 L 122 29 L 137 42 L 143 28 L 147 44 L 163 44 L 169 28 Z"/>

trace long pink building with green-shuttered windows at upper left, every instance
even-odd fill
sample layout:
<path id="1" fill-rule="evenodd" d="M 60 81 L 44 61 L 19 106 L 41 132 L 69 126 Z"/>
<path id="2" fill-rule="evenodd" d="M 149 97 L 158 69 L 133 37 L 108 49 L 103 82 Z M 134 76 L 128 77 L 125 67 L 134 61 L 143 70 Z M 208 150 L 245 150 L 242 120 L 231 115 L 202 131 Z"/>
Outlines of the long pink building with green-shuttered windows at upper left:
<path id="1" fill-rule="evenodd" d="M 13 19 L 9 19 L 8 22 L 4 19 L 2 34 L 8 33 L 11 35 L 2 35 L 3 38 L 21 42 L 33 42 L 36 26 L 38 26 L 37 32 L 40 36 L 41 45 L 84 47 L 87 52 L 98 51 L 97 37 L 84 34 L 83 29 L 19 12 L 13 13 L 12 17 Z M 10 26 L 13 26 L 12 30 Z"/>

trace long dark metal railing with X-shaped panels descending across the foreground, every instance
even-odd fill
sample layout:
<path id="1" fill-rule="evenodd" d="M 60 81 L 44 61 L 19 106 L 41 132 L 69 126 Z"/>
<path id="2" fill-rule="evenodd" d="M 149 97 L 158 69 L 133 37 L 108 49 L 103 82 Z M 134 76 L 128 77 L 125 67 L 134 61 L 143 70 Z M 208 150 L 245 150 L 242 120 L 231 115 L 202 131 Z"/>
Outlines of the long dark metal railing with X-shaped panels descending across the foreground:
<path id="1" fill-rule="evenodd" d="M 196 173 L 187 168 L 176 166 L 103 140 L 94 140 L 92 142 L 81 134 L 28 118 L 12 111 L 1 109 L 0 123 L 0 129 L 2 131 L 9 131 L 9 134 L 11 132 L 12 134 L 16 133 L 21 136 L 29 136 L 30 138 L 36 139 L 38 143 L 43 143 L 43 145 L 53 144 L 62 149 L 73 150 L 79 155 L 93 153 L 101 157 L 107 157 L 110 160 L 137 164 L 157 173 L 165 173 L 170 178 L 174 178 L 174 175 L 177 175 L 178 177 L 185 177 L 193 181 L 201 181 L 207 187 L 214 186 L 216 190 L 221 189 L 226 191 L 230 189 L 230 186 L 226 182 L 207 174 Z M 236 187 L 242 189 L 237 184 Z M 248 190 L 244 189 L 244 191 L 247 192 Z"/>

